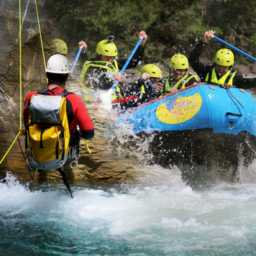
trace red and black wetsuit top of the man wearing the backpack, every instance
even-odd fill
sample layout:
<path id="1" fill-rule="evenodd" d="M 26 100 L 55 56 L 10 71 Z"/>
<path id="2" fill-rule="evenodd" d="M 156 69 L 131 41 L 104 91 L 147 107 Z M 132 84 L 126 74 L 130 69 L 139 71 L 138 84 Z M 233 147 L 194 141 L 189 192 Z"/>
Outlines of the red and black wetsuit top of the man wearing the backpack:
<path id="1" fill-rule="evenodd" d="M 52 91 L 58 95 L 59 93 L 64 92 L 65 90 L 60 87 L 55 87 L 52 89 Z M 38 92 L 31 92 L 26 96 L 24 106 L 26 106 L 26 103 L 28 102 L 28 100 L 35 93 L 38 93 Z M 48 92 L 48 95 L 53 95 L 53 93 Z M 73 133 L 75 133 L 76 124 L 78 124 L 81 131 L 81 137 L 83 139 L 89 140 L 93 138 L 94 126 L 90 119 L 90 116 L 88 115 L 87 109 L 82 99 L 73 93 L 68 94 L 66 96 L 66 99 L 67 99 L 67 118 L 70 125 L 70 130 L 73 131 Z M 23 122 L 25 126 L 29 122 L 29 108 L 26 108 L 23 110 Z"/>

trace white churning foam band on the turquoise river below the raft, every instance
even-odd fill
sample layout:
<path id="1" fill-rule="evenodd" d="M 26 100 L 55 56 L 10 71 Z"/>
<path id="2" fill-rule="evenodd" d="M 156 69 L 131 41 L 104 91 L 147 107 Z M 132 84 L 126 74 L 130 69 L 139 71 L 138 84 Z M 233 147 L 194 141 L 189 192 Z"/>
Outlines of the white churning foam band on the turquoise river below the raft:
<path id="1" fill-rule="evenodd" d="M 75 199 L 62 183 L 41 184 L 31 191 L 8 172 L 6 183 L 0 182 L 1 212 L 7 219 L 29 215 L 35 222 L 72 223 L 91 233 L 129 241 L 149 239 L 154 233 L 168 240 L 161 235 L 165 232 L 193 233 L 202 240 L 207 232 L 212 241 L 220 233 L 227 233 L 227 240 L 244 239 L 254 232 L 255 184 L 218 183 L 197 190 L 181 180 L 177 169 L 151 168 L 165 175 L 103 183 L 99 188 L 71 186 Z"/>

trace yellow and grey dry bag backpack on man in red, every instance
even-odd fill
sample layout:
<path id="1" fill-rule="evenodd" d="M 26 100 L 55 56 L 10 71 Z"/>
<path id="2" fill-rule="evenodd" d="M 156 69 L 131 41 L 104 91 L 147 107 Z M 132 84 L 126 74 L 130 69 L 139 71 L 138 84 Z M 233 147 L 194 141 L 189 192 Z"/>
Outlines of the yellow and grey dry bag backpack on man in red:
<path id="1" fill-rule="evenodd" d="M 64 97 L 67 94 L 69 93 L 62 92 L 50 96 L 37 93 L 30 99 L 26 130 L 30 163 L 35 168 L 58 169 L 67 161 L 70 141 Z"/>

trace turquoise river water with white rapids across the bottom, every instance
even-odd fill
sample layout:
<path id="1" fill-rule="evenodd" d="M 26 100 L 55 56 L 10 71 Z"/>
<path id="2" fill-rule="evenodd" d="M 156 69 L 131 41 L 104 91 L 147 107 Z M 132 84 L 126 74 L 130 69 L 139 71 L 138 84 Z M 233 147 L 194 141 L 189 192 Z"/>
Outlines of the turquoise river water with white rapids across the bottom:
<path id="1" fill-rule="evenodd" d="M 74 180 L 74 199 L 61 182 L 7 172 L 0 255 L 256 255 L 255 166 L 240 183 L 186 184 L 177 168 L 136 182 Z"/>

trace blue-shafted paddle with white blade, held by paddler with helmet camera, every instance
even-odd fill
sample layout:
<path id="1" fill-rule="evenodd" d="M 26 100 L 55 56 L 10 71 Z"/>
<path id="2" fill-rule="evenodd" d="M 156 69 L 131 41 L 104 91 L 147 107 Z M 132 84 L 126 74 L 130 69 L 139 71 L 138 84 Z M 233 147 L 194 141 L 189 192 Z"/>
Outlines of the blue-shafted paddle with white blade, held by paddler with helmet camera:
<path id="1" fill-rule="evenodd" d="M 133 51 L 131 52 L 129 58 L 128 58 L 127 61 L 125 62 L 125 65 L 122 67 L 122 70 L 120 71 L 120 74 L 122 74 L 122 73 L 125 71 L 126 67 L 128 66 L 129 62 L 131 61 L 131 58 L 133 57 L 134 53 L 135 53 L 136 50 L 138 49 L 138 47 L 139 47 L 139 45 L 140 45 L 140 43 L 141 43 L 142 40 L 143 40 L 143 37 L 141 37 L 141 38 L 139 39 L 139 41 L 137 42 L 137 44 L 135 45 L 135 47 L 134 47 Z M 113 89 L 117 86 L 117 84 L 118 84 L 118 80 L 116 80 L 116 81 L 114 82 L 114 84 L 111 86 L 111 88 L 110 88 L 106 93 L 103 93 L 102 95 L 100 95 L 100 96 L 96 99 L 96 101 L 94 102 L 94 104 L 93 104 L 93 106 L 92 106 L 92 112 L 93 112 L 93 113 L 96 113 L 97 109 L 99 108 L 99 105 L 100 105 L 100 104 L 102 103 L 102 101 L 103 101 L 102 99 L 109 99 L 109 98 L 110 98 L 111 93 L 112 93 Z"/>

